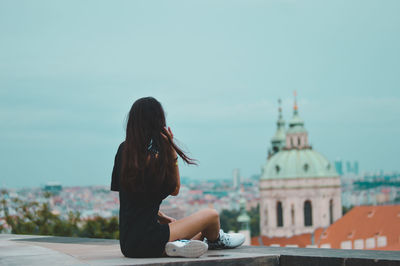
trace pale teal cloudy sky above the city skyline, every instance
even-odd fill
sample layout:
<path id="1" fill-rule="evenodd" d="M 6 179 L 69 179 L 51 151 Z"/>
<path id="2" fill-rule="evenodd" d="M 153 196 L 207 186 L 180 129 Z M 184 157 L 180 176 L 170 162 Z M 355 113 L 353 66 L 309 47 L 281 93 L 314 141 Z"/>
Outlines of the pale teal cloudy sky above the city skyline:
<path id="1" fill-rule="evenodd" d="M 143 96 L 199 161 L 182 176 L 250 177 L 294 90 L 315 150 L 398 171 L 399 13 L 397 0 L 2 0 L 0 186 L 109 184 Z"/>

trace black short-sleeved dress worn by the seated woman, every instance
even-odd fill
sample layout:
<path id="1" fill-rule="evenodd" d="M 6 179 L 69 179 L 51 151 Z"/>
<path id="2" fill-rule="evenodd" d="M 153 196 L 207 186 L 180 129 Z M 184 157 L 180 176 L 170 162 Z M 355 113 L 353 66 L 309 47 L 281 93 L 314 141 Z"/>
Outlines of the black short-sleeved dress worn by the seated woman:
<path id="1" fill-rule="evenodd" d="M 149 195 L 125 191 L 120 186 L 121 153 L 118 148 L 112 172 L 111 190 L 119 191 L 119 243 L 126 257 L 160 257 L 169 239 L 169 225 L 158 223 L 158 210 L 165 193 Z"/>

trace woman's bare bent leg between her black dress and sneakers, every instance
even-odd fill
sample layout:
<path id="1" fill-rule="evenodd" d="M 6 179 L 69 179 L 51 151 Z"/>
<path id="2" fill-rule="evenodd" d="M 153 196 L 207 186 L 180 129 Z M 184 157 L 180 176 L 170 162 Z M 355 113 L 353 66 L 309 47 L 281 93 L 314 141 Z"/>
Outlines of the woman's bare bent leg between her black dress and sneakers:
<path id="1" fill-rule="evenodd" d="M 169 241 L 206 237 L 215 241 L 219 234 L 219 215 L 214 209 L 198 211 L 188 217 L 169 223 Z"/>

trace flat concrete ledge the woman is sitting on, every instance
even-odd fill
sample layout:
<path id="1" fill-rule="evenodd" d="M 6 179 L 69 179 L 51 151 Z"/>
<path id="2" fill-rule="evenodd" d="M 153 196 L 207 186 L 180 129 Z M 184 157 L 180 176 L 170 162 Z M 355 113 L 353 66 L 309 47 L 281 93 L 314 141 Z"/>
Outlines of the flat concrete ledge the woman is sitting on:
<path id="1" fill-rule="evenodd" d="M 108 239 L 0 234 L 0 265 L 400 265 L 400 251 L 243 246 L 201 258 L 125 258 Z"/>

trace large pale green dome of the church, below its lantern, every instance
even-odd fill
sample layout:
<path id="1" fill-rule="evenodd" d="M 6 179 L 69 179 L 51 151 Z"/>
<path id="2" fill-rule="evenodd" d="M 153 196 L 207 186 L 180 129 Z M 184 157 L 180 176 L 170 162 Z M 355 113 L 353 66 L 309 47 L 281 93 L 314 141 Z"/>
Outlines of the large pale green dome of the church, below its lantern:
<path id="1" fill-rule="evenodd" d="M 262 169 L 261 179 L 315 178 L 338 176 L 333 165 L 312 149 L 282 150 Z"/>

